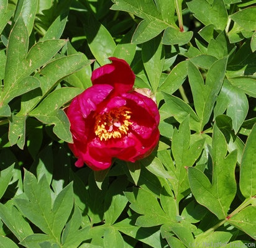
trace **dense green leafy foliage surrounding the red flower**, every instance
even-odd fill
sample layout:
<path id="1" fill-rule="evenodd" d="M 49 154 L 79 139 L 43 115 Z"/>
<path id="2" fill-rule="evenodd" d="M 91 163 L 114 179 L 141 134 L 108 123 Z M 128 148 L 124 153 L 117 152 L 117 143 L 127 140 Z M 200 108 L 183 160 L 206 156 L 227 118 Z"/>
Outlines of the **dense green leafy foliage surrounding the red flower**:
<path id="1" fill-rule="evenodd" d="M 0 0 L 0 247 L 254 247 L 252 0 Z M 77 169 L 63 111 L 123 58 L 157 98 L 149 157 Z"/>

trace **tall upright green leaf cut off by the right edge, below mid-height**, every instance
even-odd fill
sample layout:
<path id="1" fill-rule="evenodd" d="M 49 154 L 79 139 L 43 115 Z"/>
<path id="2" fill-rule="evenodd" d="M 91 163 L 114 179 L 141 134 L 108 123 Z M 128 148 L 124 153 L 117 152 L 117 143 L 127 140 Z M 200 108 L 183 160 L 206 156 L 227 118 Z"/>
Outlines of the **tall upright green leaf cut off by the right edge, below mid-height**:
<path id="1" fill-rule="evenodd" d="M 256 195 L 256 153 L 255 153 L 256 125 L 252 128 L 247 138 L 244 154 L 240 164 L 240 190 L 245 198 Z"/>

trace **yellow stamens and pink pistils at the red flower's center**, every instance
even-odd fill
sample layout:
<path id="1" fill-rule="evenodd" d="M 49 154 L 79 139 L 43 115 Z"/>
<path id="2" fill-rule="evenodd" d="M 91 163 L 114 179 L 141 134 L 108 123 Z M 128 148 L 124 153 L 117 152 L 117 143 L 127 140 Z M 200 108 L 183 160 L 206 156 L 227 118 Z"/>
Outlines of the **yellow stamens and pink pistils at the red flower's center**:
<path id="1" fill-rule="evenodd" d="M 127 107 L 114 108 L 103 115 L 95 115 L 94 132 L 105 141 L 111 138 L 121 138 L 129 130 L 130 109 Z"/>

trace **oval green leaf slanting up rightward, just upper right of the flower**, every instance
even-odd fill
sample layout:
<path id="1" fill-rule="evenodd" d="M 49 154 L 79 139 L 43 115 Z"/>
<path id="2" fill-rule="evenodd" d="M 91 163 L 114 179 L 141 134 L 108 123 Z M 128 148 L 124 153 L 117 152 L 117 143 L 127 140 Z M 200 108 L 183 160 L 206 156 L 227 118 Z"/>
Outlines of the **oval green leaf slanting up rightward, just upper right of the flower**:
<path id="1" fill-rule="evenodd" d="M 168 94 L 173 94 L 186 79 L 188 74 L 188 63 L 187 61 L 182 61 L 178 63 L 175 68 L 173 68 L 168 74 L 167 78 L 161 86 L 158 88 L 158 91 L 167 92 Z"/>

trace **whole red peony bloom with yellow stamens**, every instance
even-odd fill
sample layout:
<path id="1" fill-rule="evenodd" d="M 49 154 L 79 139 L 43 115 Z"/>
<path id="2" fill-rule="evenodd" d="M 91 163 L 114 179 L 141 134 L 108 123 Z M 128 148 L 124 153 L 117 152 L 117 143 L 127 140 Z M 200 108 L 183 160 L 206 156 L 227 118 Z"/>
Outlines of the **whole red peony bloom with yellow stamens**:
<path id="1" fill-rule="evenodd" d="M 159 112 L 155 102 L 132 89 L 135 75 L 124 60 L 109 58 L 93 71 L 93 86 L 76 96 L 66 110 L 73 135 L 69 144 L 93 170 L 111 166 L 112 158 L 135 162 L 158 143 Z"/>

